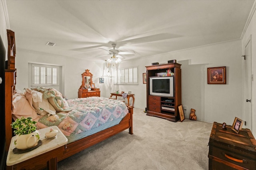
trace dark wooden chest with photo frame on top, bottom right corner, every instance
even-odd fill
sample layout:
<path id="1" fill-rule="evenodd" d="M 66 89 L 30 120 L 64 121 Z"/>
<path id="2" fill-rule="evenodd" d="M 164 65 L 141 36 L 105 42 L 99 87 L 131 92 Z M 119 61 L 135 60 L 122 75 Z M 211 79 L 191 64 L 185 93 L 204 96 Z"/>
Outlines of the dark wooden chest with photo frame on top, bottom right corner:
<path id="1" fill-rule="evenodd" d="M 209 141 L 209 170 L 256 170 L 256 141 L 250 129 L 239 133 L 214 122 Z"/>

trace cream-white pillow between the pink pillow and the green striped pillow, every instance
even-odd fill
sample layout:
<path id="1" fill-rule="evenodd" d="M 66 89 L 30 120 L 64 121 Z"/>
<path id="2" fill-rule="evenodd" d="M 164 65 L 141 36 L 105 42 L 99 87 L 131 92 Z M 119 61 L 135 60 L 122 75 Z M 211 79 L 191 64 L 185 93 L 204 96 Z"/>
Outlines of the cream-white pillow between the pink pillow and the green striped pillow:
<path id="1" fill-rule="evenodd" d="M 54 107 L 52 107 L 47 99 L 42 97 L 41 92 L 29 88 L 25 88 L 25 90 L 25 96 L 28 99 L 28 102 L 35 107 L 38 115 L 46 115 L 48 113 L 51 115 L 56 114 Z"/>

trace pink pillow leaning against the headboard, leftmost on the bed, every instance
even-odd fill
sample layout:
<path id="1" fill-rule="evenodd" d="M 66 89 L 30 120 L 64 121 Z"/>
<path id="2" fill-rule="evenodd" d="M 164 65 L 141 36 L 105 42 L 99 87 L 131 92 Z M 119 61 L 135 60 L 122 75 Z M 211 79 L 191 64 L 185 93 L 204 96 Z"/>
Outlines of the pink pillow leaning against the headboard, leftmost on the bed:
<path id="1" fill-rule="evenodd" d="M 20 94 L 16 93 L 12 97 L 12 118 L 14 121 L 20 117 L 32 117 L 34 121 L 38 121 L 39 116 L 36 113 L 36 109 L 30 106 L 27 98 Z"/>

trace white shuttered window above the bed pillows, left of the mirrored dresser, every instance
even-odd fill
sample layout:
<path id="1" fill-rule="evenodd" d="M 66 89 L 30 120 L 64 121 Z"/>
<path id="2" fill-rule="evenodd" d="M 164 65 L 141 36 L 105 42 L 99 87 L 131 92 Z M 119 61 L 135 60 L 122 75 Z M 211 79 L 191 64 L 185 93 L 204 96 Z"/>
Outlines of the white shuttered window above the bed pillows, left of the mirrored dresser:
<path id="1" fill-rule="evenodd" d="M 58 66 L 32 64 L 32 86 L 58 85 Z"/>

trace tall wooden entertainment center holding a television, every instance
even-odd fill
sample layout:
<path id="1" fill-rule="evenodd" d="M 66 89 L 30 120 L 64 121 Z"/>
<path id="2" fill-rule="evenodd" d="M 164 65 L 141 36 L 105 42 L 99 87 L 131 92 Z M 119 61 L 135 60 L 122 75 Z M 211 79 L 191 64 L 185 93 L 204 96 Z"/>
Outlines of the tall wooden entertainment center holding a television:
<path id="1" fill-rule="evenodd" d="M 177 122 L 181 104 L 181 64 L 168 63 L 146 66 L 147 113 Z"/>

